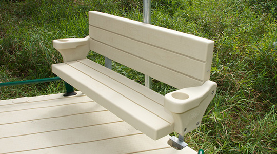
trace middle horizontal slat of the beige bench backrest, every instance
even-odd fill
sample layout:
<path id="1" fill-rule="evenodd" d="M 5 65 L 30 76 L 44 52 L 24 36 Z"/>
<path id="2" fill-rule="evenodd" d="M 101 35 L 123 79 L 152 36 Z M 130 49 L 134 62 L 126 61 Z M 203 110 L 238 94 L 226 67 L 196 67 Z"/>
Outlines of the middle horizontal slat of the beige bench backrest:
<path id="1" fill-rule="evenodd" d="M 93 40 L 97 40 L 115 49 L 122 50 L 122 52 L 146 60 L 150 62 L 150 64 L 154 63 L 161 65 L 162 67 L 170 68 L 173 71 L 184 73 L 187 76 L 202 81 L 209 78 L 210 68 L 206 68 L 206 63 L 202 61 L 197 61 L 184 55 L 157 48 L 143 42 L 138 42 L 129 37 L 124 37 L 93 26 L 89 26 L 89 35 Z M 101 50 L 95 50 L 95 52 L 103 54 Z M 110 58 L 113 59 L 113 57 Z M 145 69 L 151 69 L 152 65 L 149 65 L 148 68 Z"/>

